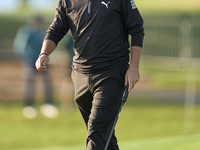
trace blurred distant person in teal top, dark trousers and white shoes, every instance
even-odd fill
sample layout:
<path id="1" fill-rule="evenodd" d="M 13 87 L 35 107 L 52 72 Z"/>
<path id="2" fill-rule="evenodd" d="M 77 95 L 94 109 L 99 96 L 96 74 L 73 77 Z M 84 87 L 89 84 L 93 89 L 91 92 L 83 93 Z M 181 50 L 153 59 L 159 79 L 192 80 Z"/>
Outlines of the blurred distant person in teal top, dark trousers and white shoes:
<path id="1" fill-rule="evenodd" d="M 23 109 L 23 115 L 29 119 L 37 116 L 34 108 L 36 74 L 42 76 L 45 87 L 45 104 L 41 107 L 42 114 L 49 118 L 54 118 L 58 114 L 57 108 L 53 105 L 53 92 L 49 74 L 48 72 L 38 72 L 35 68 L 35 61 L 40 54 L 45 36 L 45 31 L 42 29 L 42 26 L 42 18 L 35 17 L 31 22 L 25 24 L 18 30 L 14 40 L 14 52 L 21 59 L 25 72 L 25 107 Z"/>

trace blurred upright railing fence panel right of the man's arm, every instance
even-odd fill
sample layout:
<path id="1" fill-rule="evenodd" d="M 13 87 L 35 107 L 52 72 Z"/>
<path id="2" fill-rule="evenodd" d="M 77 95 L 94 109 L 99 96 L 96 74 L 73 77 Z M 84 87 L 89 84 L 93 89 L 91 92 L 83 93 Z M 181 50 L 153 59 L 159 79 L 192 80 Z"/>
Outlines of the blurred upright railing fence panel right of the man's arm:
<path id="1" fill-rule="evenodd" d="M 200 64 L 200 16 L 145 17 L 144 63 Z"/>

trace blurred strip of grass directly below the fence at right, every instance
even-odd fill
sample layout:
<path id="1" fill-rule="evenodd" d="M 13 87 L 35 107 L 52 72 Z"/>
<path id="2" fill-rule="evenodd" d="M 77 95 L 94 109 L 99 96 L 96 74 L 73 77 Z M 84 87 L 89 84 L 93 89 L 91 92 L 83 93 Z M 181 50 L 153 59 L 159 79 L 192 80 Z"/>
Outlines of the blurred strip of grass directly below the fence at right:
<path id="1" fill-rule="evenodd" d="M 200 72 L 196 70 L 181 68 L 178 65 L 165 63 L 144 63 L 140 67 L 141 81 L 150 82 L 151 88 L 162 90 L 185 91 L 186 85 L 195 82 L 196 92 L 200 91 Z"/>

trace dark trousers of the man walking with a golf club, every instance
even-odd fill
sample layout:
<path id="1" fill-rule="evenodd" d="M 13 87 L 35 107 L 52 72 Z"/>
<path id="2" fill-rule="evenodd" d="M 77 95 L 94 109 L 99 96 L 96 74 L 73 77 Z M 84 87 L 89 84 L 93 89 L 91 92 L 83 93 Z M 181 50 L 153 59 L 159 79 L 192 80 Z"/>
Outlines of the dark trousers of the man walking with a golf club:
<path id="1" fill-rule="evenodd" d="M 88 129 L 87 150 L 104 150 L 121 104 L 124 75 L 119 68 L 90 75 L 73 71 L 75 101 Z M 119 150 L 115 134 L 108 150 Z"/>

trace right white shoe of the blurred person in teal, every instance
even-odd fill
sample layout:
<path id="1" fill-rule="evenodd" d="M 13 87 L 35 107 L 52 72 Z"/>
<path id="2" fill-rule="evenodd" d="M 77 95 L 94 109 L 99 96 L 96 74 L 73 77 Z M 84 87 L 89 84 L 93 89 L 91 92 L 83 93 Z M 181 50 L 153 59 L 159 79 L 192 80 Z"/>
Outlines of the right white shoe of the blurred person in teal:
<path id="1" fill-rule="evenodd" d="M 58 116 L 58 109 L 52 104 L 42 105 L 40 111 L 47 118 L 56 118 Z"/>

